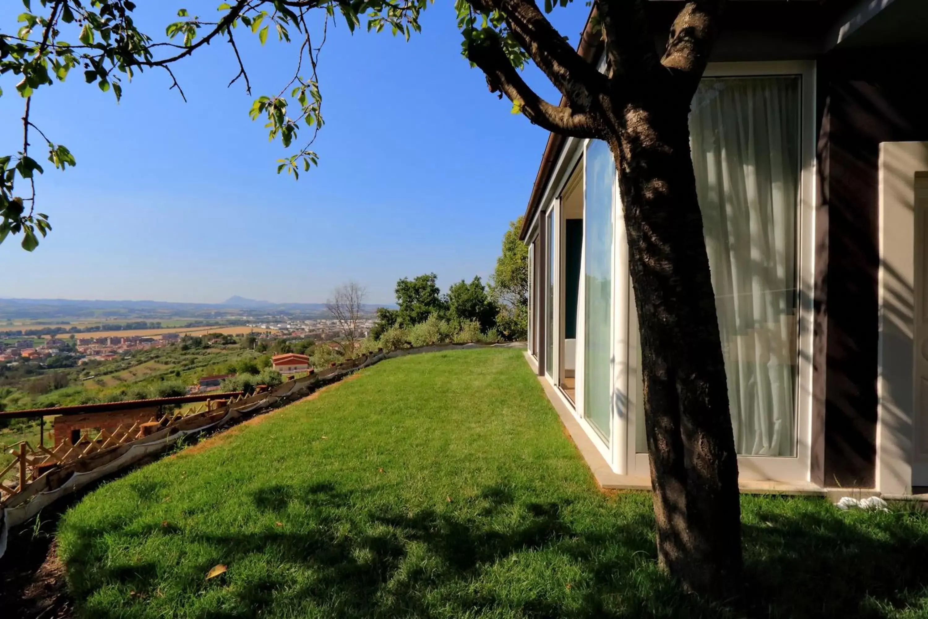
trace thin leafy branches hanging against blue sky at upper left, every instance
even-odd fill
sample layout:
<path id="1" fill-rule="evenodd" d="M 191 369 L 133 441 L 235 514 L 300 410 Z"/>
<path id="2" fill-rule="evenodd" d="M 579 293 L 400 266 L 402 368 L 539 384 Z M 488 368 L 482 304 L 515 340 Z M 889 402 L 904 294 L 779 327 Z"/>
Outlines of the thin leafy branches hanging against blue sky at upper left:
<path id="1" fill-rule="evenodd" d="M 318 161 L 312 145 L 323 117 L 316 69 L 329 24 L 335 25 L 338 17 L 354 32 L 366 19 L 368 31 L 388 28 L 408 39 L 411 32 L 419 32 L 419 16 L 429 1 L 237 0 L 219 4 L 215 15 L 208 17 L 180 8 L 178 19 L 167 24 L 163 36 L 156 36 L 136 27 L 137 0 L 22 0 L 25 11 L 16 26 L 0 29 L 0 74 L 18 76 L 16 90 L 25 99 L 22 147 L 0 157 L 0 242 L 10 234 L 21 234 L 23 249 L 32 251 L 38 236 L 45 237 L 51 229 L 47 215 L 35 208 L 35 174 L 43 174 L 44 168 L 36 161 L 32 140 L 36 134 L 41 136 L 48 161 L 60 170 L 76 160 L 68 148 L 33 123 L 30 109 L 40 89 L 65 81 L 71 71 L 83 71 L 86 84 L 97 84 L 118 102 L 124 84 L 146 69 L 157 69 L 165 71 L 171 88 L 185 97 L 171 67 L 203 45 L 223 42 L 237 67 L 229 85 L 240 81 L 251 95 L 237 37 L 253 35 L 262 45 L 269 37 L 298 43 L 290 82 L 277 94 L 258 97 L 251 107 L 252 120 L 264 118 L 269 138 L 279 138 L 285 148 L 299 143 L 301 129 L 309 132 L 302 146 L 277 161 L 278 173 L 286 170 L 298 178 L 301 168 L 307 171 Z M 311 18 L 315 18 L 312 23 Z M 4 94 L 0 89 L 0 97 Z"/>

